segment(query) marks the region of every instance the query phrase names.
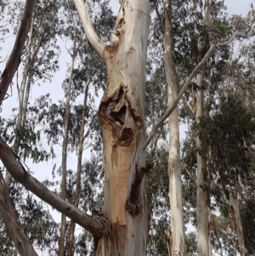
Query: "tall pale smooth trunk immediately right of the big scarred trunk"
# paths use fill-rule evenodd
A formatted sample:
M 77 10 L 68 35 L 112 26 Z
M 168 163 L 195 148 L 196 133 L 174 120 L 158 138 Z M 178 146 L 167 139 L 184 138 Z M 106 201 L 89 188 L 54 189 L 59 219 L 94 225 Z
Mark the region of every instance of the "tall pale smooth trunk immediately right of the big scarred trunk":
M 167 77 L 168 107 L 177 100 L 178 89 L 173 60 L 172 0 L 165 0 L 165 52 L 164 62 Z M 170 256 L 184 255 L 184 214 L 181 183 L 178 107 L 168 118 L 169 122 L 169 199 L 171 208 Z

